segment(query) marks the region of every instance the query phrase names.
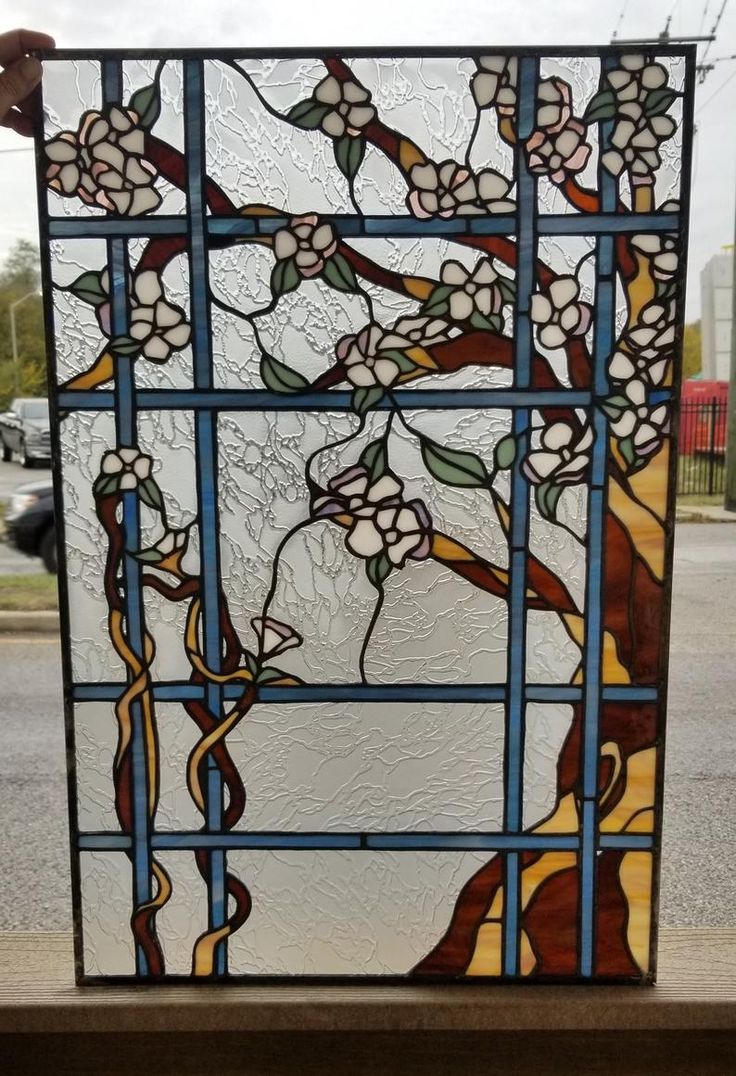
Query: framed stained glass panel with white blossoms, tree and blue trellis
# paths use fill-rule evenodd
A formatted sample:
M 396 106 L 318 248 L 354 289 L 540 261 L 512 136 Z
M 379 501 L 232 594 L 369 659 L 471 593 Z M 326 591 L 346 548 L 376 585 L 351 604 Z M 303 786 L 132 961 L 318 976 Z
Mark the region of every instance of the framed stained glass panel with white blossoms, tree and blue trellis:
M 51 53 L 77 975 L 651 979 L 694 53 Z

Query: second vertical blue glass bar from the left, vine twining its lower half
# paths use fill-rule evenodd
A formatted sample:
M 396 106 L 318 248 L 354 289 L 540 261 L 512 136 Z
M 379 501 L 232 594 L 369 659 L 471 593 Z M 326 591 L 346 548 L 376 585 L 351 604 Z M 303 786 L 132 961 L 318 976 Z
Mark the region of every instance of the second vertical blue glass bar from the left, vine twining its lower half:
M 207 251 L 207 204 L 204 198 L 204 67 L 203 61 L 184 61 L 184 123 L 187 157 L 187 216 L 189 221 L 189 296 L 195 388 L 212 387 L 212 346 L 209 308 L 209 261 Z M 202 603 L 202 645 L 210 669 L 221 671 L 220 631 L 220 544 L 217 525 L 217 420 L 210 410 L 195 415 L 197 444 L 197 486 L 199 493 L 200 597 Z M 209 684 L 207 706 L 217 720 L 222 717 L 222 689 Z M 223 826 L 222 775 L 208 759 L 206 826 L 218 832 Z M 210 852 L 208 884 L 209 925 L 223 926 L 227 920 L 225 852 Z M 215 950 L 214 971 L 224 975 L 227 949 L 224 942 Z

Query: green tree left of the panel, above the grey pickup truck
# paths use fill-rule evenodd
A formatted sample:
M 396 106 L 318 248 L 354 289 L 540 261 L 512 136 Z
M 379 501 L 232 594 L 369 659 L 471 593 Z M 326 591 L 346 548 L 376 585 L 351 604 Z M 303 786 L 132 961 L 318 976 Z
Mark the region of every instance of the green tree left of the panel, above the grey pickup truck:
M 0 410 L 8 407 L 16 390 L 20 396 L 46 395 L 46 349 L 40 295 L 15 308 L 17 368 L 13 363 L 11 340 L 11 305 L 29 292 L 38 292 L 40 282 L 39 252 L 27 239 L 20 239 L 0 268 Z

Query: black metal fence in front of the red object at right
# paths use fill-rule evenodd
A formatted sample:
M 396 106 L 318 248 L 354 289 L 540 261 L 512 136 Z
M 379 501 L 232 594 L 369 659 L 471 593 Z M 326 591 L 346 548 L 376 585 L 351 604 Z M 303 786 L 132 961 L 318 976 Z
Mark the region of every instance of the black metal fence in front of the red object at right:
M 725 400 L 682 400 L 677 492 L 713 495 L 725 489 Z

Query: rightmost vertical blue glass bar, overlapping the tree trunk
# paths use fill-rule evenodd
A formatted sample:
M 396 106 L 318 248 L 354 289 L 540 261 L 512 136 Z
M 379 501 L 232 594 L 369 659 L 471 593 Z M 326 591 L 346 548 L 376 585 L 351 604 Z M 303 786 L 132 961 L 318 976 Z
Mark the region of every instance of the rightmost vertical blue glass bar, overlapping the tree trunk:
M 615 66 L 605 60 L 601 70 Z M 612 125 L 598 127 L 601 146 L 606 144 Z M 598 167 L 600 211 L 613 213 L 618 201 L 618 183 L 603 167 Z M 593 351 L 593 385 L 597 397 L 608 394 L 608 360 L 615 342 L 615 258 L 613 237 L 601 236 L 596 241 L 595 260 L 595 343 Z M 588 500 L 588 562 L 585 571 L 585 664 L 583 688 L 582 736 L 582 835 L 580 847 L 580 974 L 595 972 L 595 908 L 596 858 L 598 827 L 598 753 L 600 700 L 603 691 L 604 637 L 604 544 L 606 539 L 606 464 L 608 459 L 608 421 L 596 408 L 593 415 L 593 463 Z

